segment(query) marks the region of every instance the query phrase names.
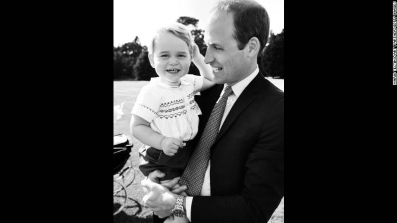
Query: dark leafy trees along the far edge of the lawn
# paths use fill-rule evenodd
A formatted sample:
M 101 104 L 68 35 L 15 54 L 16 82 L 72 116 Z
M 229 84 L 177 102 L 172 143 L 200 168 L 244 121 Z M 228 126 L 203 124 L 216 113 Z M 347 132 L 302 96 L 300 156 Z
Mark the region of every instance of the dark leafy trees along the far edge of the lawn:
M 191 26 L 200 53 L 205 55 L 207 46 L 204 43 L 204 30 L 198 29 L 198 19 L 181 16 L 177 22 Z M 113 47 L 113 79 L 114 80 L 150 80 L 157 77 L 150 65 L 148 47 L 142 46 L 139 37 L 121 46 Z M 284 78 L 284 29 L 279 34 L 270 32 L 268 44 L 258 56 L 259 70 L 267 77 Z M 198 68 L 191 64 L 189 73 L 199 75 Z

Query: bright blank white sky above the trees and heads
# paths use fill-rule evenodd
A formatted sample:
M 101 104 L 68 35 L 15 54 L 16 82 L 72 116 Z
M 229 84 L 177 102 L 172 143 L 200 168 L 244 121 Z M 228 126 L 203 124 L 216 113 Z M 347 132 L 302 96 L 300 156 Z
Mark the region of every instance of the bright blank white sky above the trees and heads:
M 256 0 L 270 17 L 270 30 L 275 34 L 284 28 L 284 0 Z M 113 44 L 132 42 L 138 36 L 148 45 L 151 33 L 163 23 L 180 16 L 198 19 L 198 28 L 205 29 L 209 10 L 215 0 L 113 0 Z

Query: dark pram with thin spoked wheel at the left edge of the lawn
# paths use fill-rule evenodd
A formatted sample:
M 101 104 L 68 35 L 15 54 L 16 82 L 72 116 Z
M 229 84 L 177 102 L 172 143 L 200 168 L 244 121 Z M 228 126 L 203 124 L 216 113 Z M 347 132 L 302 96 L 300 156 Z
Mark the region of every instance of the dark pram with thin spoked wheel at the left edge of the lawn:
M 116 208 L 113 215 L 120 213 L 126 206 L 128 200 L 127 187 L 131 185 L 135 179 L 135 170 L 132 167 L 132 161 L 130 160 L 132 147 L 133 145 L 130 144 L 125 134 L 113 136 L 113 203 L 115 203 L 115 200 L 120 200 L 120 198 L 122 200 L 124 199 L 124 202 L 122 202 L 123 205 L 118 209 Z M 132 180 L 129 180 L 130 183 L 125 185 L 125 179 L 131 170 L 133 171 L 134 176 Z

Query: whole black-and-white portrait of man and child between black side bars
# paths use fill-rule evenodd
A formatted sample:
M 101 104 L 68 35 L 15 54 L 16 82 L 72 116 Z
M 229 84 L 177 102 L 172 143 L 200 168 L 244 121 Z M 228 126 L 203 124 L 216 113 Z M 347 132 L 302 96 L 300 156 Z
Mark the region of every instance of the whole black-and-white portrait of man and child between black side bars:
M 113 223 L 284 223 L 284 1 L 113 10 Z

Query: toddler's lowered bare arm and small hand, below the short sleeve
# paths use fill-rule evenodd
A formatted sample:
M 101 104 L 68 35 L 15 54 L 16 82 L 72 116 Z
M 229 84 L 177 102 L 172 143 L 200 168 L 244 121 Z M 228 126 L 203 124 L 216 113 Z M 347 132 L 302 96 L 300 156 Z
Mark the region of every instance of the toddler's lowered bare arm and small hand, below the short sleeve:
M 133 114 L 131 119 L 131 132 L 141 143 L 154 147 L 168 156 L 174 156 L 184 143 L 176 138 L 165 137 L 150 128 L 150 123 L 145 119 Z

